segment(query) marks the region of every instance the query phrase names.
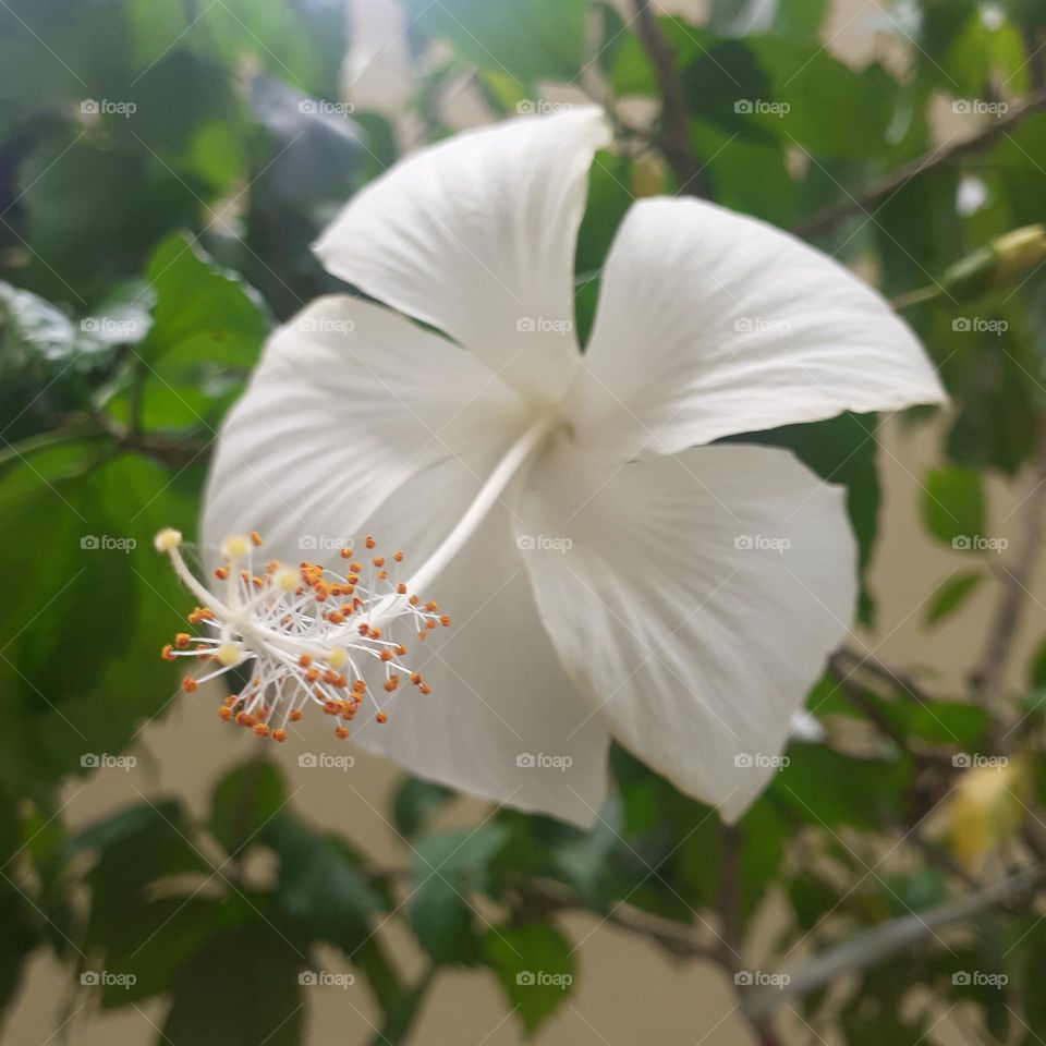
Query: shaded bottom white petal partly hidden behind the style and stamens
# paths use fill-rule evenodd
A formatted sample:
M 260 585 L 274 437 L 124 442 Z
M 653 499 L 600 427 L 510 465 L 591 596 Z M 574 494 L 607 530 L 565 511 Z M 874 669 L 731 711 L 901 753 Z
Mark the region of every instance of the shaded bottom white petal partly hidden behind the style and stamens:
M 435 466 L 366 530 L 421 562 L 464 512 L 494 457 L 474 452 Z M 423 777 L 589 827 L 606 792 L 606 727 L 588 716 L 542 625 L 506 506 L 422 595 L 451 617 L 425 643 L 405 641 L 406 661 L 433 691 L 401 688 L 385 706 L 388 722 L 360 717 L 353 740 Z

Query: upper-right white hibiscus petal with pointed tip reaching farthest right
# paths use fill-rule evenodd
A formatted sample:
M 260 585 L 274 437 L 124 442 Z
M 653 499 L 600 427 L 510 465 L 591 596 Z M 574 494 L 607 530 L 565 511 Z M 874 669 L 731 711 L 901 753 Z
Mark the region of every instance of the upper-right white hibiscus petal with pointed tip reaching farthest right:
M 875 291 L 794 236 L 696 199 L 632 207 L 585 364 L 569 414 L 582 446 L 618 461 L 944 399 Z

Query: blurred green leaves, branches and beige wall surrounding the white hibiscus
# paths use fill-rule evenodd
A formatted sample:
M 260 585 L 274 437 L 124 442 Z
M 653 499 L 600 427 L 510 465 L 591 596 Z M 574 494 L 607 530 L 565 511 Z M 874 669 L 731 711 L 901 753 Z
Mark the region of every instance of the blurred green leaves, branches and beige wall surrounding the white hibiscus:
M 847 485 L 864 591 L 737 832 L 620 752 L 591 834 L 259 752 L 157 657 L 191 600 L 151 536 L 343 289 L 318 231 L 591 100 L 582 331 L 629 204 L 691 192 L 878 285 L 952 396 L 763 435 Z M 4 1042 L 1046 1042 L 1044 205 L 1035 0 L 0 0 Z

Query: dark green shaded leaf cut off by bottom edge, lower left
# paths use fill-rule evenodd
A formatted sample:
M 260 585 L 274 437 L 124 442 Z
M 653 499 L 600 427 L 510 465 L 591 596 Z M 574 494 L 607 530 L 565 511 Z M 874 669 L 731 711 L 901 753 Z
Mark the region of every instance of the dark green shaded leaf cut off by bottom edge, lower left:
M 169 1046 L 297 1046 L 304 957 L 275 928 L 218 934 L 182 968 L 161 1042 Z

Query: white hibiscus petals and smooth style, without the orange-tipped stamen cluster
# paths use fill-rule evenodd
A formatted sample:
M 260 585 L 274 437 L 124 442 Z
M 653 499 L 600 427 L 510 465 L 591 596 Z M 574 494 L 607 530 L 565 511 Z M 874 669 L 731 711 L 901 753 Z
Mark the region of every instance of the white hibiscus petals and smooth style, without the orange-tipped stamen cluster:
M 582 352 L 575 239 L 609 141 L 596 109 L 512 120 L 356 194 L 316 253 L 372 301 L 320 299 L 270 339 L 203 535 L 258 526 L 287 559 L 381 534 L 415 587 L 438 579 L 439 700 L 356 743 L 591 825 L 612 739 L 735 820 L 849 629 L 856 549 L 840 488 L 721 440 L 944 391 L 875 291 L 696 199 L 632 207 Z

